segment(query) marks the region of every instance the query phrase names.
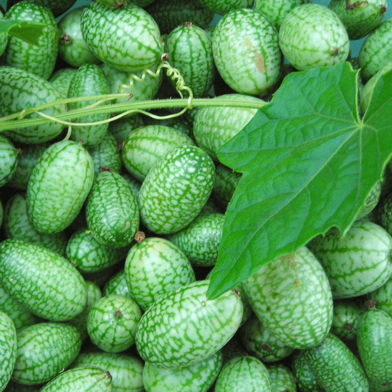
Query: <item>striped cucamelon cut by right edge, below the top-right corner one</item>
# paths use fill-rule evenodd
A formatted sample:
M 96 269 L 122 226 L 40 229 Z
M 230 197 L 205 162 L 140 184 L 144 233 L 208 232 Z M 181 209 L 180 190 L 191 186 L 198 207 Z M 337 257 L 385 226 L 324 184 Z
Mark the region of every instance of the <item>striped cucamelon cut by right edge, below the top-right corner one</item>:
M 361 75 L 370 79 L 392 58 L 392 18 L 380 23 L 366 38 L 358 54 Z

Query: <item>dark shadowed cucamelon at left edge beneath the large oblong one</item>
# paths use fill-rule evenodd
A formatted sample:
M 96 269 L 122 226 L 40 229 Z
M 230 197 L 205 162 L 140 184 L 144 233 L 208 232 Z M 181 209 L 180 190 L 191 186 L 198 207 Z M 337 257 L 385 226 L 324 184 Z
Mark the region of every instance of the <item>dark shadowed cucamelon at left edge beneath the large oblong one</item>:
M 2 286 L 0 286 L 0 312 L 6 313 L 12 319 L 17 331 L 40 321 L 39 317 L 7 294 Z

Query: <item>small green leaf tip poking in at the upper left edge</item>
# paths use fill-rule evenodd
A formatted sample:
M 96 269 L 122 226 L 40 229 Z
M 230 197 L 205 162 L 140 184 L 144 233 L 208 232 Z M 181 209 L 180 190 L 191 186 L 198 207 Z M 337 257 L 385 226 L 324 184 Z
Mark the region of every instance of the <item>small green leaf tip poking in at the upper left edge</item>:
M 37 46 L 38 39 L 43 33 L 43 23 L 34 23 L 17 20 L 0 20 L 0 35 L 7 34 L 10 37 L 20 38 L 28 44 Z

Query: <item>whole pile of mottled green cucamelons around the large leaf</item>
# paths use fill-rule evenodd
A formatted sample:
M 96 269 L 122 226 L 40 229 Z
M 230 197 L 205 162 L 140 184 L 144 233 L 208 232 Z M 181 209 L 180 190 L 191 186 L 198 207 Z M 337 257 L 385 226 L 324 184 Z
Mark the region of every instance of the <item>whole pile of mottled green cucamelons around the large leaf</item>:
M 241 180 L 217 151 L 289 73 L 349 61 L 365 113 L 387 2 L 73 5 L 0 13 L 0 391 L 392 391 L 392 164 L 344 236 L 207 295 Z

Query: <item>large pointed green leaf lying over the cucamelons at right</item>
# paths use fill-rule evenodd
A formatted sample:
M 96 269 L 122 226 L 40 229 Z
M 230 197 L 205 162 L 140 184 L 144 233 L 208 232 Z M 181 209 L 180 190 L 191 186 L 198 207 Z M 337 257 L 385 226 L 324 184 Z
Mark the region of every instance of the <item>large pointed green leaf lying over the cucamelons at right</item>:
M 290 73 L 218 151 L 244 174 L 226 211 L 209 298 L 355 220 L 392 153 L 392 73 L 380 78 L 363 121 L 357 73 L 349 63 Z

